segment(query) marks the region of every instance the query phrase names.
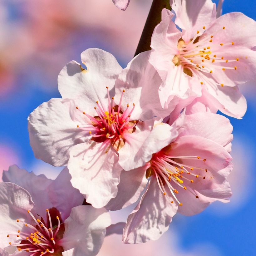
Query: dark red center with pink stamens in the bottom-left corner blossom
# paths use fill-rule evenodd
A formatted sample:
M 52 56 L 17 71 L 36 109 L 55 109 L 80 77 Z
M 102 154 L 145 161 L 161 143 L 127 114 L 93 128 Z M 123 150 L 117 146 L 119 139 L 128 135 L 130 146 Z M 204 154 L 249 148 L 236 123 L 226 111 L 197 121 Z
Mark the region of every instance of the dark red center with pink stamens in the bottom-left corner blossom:
M 36 224 L 27 224 L 24 221 L 17 219 L 17 222 L 24 224 L 24 230 L 17 230 L 17 234 L 8 234 L 7 237 L 14 235 L 16 237 L 20 237 L 22 240 L 15 244 L 9 242 L 9 244 L 16 246 L 18 251 L 31 253 L 30 256 L 50 254 L 61 255 L 63 248 L 58 245 L 58 241 L 62 238 L 62 234 L 60 234 L 62 233 L 60 232 L 61 218 L 58 215 L 56 216 L 57 225 L 56 227 L 53 227 L 53 224 L 56 221 L 52 221 L 50 211 L 53 213 L 52 215 L 54 215 L 54 212 L 56 213 L 57 209 L 46 209 L 46 211 L 48 224 L 45 224 L 42 218 L 36 219 L 29 210 L 27 212 L 30 214 Z

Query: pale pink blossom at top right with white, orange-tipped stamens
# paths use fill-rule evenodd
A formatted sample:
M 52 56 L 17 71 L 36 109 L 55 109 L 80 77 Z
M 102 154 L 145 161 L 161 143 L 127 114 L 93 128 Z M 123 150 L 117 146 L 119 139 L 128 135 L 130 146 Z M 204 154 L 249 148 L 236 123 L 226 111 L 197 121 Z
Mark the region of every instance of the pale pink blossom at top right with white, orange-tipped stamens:
M 175 23 L 174 14 L 164 9 L 152 35 L 149 59 L 163 80 L 162 106 L 175 95 L 186 99 L 203 94 L 211 109 L 241 118 L 246 101 L 237 85 L 255 77 L 255 21 L 239 12 L 216 19 L 210 0 L 170 4 Z

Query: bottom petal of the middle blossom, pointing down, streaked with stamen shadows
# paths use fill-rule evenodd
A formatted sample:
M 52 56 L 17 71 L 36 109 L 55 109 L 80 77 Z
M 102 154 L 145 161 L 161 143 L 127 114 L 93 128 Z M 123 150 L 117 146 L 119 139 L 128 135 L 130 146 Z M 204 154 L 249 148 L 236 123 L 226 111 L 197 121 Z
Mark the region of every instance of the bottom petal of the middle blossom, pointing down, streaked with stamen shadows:
M 75 145 L 68 162 L 73 187 L 96 208 L 105 206 L 116 196 L 122 170 L 116 150 L 110 143 L 105 144 L 90 140 Z

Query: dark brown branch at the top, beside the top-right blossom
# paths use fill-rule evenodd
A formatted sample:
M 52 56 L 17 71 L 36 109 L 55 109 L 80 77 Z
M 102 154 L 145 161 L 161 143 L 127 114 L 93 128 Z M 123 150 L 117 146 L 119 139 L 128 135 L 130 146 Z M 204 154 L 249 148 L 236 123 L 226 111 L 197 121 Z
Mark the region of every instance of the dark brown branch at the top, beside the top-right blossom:
M 134 56 L 138 55 L 140 52 L 151 50 L 151 36 L 155 26 L 161 21 L 163 8 L 171 10 L 170 0 L 153 0 Z

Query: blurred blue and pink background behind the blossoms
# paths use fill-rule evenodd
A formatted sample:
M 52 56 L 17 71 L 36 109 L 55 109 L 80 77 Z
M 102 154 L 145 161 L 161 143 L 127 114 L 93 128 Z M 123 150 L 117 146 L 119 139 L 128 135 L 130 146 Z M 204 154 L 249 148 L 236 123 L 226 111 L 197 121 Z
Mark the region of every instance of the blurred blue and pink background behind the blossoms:
M 192 1 L 192 0 L 191 0 Z M 133 57 L 152 0 L 131 0 L 125 12 L 111 0 L 0 0 L 0 174 L 9 165 L 55 178 L 61 168 L 37 160 L 29 145 L 27 116 L 42 102 L 60 97 L 57 76 L 80 53 L 99 47 L 125 67 Z M 214 1 L 217 2 L 217 1 Z M 223 13 L 255 19 L 255 0 L 225 0 Z M 176 214 L 158 241 L 124 245 L 105 239 L 101 256 L 255 255 L 255 85 L 240 87 L 248 110 L 234 126 L 229 177 L 233 197 L 191 217 Z M 111 213 L 125 221 L 132 207 Z

